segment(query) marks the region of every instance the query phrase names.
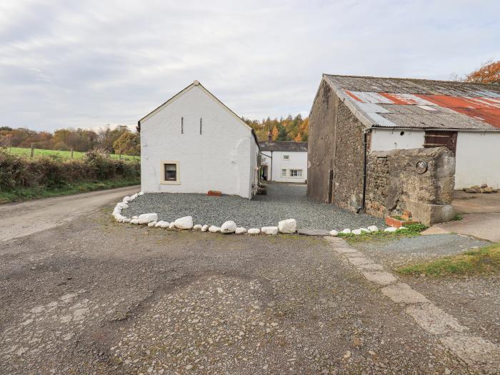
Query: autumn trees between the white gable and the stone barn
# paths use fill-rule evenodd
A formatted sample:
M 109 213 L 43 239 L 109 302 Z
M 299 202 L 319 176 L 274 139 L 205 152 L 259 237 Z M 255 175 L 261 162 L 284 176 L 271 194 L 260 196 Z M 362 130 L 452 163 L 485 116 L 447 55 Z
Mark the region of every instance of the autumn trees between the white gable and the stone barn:
M 267 141 L 269 130 L 271 130 L 273 141 L 305 142 L 309 138 L 309 117 L 302 119 L 300 114 L 280 119 L 268 117 L 262 121 L 249 120 L 244 117 L 242 119 L 255 130 L 259 141 Z

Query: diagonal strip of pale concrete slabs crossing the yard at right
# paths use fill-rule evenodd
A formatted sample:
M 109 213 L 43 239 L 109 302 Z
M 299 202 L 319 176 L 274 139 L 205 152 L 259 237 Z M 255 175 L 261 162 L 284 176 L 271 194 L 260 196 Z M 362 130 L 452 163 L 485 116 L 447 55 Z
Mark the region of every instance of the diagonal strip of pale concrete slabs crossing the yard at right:
M 379 286 L 381 293 L 391 301 L 405 307 L 424 331 L 436 336 L 452 353 L 479 371 L 496 373 L 500 368 L 500 345 L 473 336 L 469 328 L 442 311 L 423 294 L 398 281 L 384 271 L 381 264 L 367 258 L 361 251 L 352 249 L 344 239 L 325 236 L 333 249 L 359 271 L 366 280 Z

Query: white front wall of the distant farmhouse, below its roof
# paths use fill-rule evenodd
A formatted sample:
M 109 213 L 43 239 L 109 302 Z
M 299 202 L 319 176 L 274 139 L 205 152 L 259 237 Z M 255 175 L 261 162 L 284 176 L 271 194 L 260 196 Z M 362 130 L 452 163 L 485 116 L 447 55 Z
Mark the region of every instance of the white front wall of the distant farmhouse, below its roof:
M 262 151 L 264 154 L 271 155 L 271 151 Z M 283 155 L 288 155 L 289 159 L 283 159 Z M 267 178 L 276 182 L 296 182 L 304 184 L 307 179 L 307 151 L 273 151 L 272 175 L 271 159 L 262 156 L 261 164 L 268 166 Z M 286 169 L 286 177 L 281 177 L 281 169 Z M 290 169 L 301 169 L 301 177 L 291 177 Z

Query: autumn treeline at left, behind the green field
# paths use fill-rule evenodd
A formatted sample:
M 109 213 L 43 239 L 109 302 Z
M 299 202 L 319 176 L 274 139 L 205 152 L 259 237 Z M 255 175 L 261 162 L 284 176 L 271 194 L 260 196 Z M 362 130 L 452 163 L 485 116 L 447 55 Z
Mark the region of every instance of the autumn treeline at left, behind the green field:
M 139 155 L 139 134 L 126 126 L 108 127 L 98 131 L 86 129 L 59 129 L 54 133 L 26 128 L 12 129 L 0 126 L 0 147 L 31 147 L 59 151 L 90 151 L 99 149 L 110 154 Z

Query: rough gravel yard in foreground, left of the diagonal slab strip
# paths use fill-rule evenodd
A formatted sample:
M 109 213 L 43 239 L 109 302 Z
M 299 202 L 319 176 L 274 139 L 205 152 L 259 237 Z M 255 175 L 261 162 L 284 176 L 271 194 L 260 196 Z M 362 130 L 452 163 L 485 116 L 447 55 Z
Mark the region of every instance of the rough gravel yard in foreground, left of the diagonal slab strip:
M 323 239 L 106 210 L 0 249 L 4 374 L 469 374 Z

